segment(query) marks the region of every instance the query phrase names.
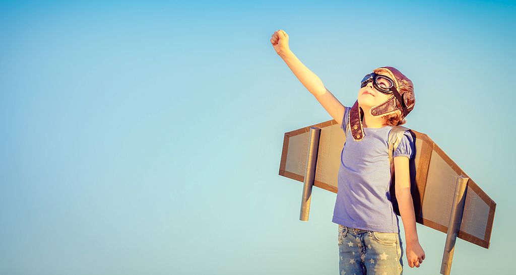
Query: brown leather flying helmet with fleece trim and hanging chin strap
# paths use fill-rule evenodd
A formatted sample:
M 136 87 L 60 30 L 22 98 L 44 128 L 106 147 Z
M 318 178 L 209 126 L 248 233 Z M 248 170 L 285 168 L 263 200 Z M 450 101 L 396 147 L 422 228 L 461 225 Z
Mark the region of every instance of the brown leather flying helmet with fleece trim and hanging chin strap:
M 381 67 L 374 70 L 373 73 L 388 76 L 393 80 L 394 86 L 390 88 L 392 96 L 387 101 L 371 108 L 371 115 L 379 117 L 394 114 L 396 111 L 399 111 L 403 118 L 407 117 L 409 112 L 414 109 L 415 105 L 414 85 L 412 81 L 393 67 Z M 385 93 L 384 91 L 382 92 Z M 391 92 L 389 92 L 389 94 L 390 93 Z M 364 129 L 361 119 L 362 114 L 363 110 L 358 106 L 357 101 L 349 111 L 351 134 L 357 141 L 364 138 Z

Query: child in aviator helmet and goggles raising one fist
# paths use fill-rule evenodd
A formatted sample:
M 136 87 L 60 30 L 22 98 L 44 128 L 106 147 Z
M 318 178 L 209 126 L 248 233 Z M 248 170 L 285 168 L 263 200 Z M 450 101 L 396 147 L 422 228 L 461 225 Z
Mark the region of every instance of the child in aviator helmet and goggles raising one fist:
M 389 192 L 392 172 L 388 137 L 392 126 L 405 123 L 414 107 L 412 82 L 395 68 L 376 69 L 362 79 L 353 107 L 344 107 L 290 51 L 288 35 L 283 30 L 275 31 L 270 42 L 304 87 L 346 132 L 333 213 L 333 222 L 339 224 L 341 275 L 401 274 L 398 218 Z M 417 238 L 410 194 L 412 151 L 412 136 L 406 132 L 393 154 L 395 193 L 405 229 L 407 261 L 410 267 L 419 267 L 425 251 Z

